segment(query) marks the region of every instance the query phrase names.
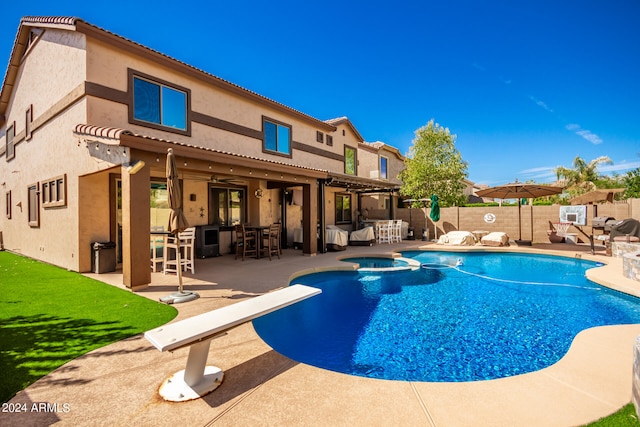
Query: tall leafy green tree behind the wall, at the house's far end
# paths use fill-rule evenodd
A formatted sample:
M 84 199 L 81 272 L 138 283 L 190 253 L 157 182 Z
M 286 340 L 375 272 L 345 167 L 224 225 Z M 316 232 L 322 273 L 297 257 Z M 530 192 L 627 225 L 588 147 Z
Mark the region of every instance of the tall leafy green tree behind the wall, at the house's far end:
M 456 150 L 456 136 L 433 119 L 415 135 L 400 173 L 400 193 L 411 199 L 428 199 L 436 194 L 441 206 L 464 204 L 467 198 L 462 180 L 468 176 L 467 163 Z

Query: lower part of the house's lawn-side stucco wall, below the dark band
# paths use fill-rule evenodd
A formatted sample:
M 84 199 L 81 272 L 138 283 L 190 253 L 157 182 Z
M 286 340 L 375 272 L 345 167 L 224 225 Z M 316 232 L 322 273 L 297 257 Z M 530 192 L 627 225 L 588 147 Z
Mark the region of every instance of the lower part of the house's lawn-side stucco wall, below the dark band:
M 3 217 L 0 229 L 5 246 L 46 262 L 72 270 L 79 268 L 80 253 L 77 223 L 79 220 L 78 176 L 86 172 L 86 149 L 71 137 L 75 123 L 84 118 L 80 102 L 33 134 L 29 142 L 16 147 L 16 157 L 0 168 L 5 192 L 12 193 L 12 218 Z M 6 173 L 6 174 L 5 174 Z M 30 184 L 66 174 L 66 206 L 40 207 L 40 226 L 28 224 L 28 192 Z M 19 208 L 17 205 L 21 204 Z

